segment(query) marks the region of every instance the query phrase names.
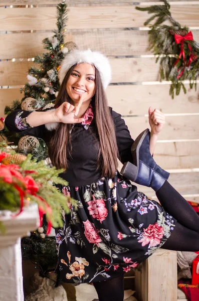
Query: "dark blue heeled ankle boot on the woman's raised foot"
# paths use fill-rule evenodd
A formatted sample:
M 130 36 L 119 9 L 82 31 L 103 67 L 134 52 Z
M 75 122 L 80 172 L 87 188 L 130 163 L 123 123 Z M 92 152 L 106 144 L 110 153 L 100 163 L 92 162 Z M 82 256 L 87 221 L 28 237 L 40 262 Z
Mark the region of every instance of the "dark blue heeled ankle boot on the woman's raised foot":
M 168 179 L 169 173 L 162 170 L 153 160 L 149 150 L 149 139 L 150 131 L 147 128 L 132 144 L 134 164 L 125 163 L 120 173 L 137 184 L 151 187 L 156 192 Z

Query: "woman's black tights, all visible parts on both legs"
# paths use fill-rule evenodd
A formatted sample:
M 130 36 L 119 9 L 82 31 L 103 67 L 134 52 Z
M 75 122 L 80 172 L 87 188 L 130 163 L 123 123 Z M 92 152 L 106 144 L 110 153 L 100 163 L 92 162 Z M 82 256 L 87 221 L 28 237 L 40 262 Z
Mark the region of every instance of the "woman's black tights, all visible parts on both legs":
M 175 251 L 199 251 L 199 216 L 187 201 L 166 181 L 156 196 L 177 223 L 162 248 Z M 93 283 L 99 301 L 123 301 L 124 276 Z

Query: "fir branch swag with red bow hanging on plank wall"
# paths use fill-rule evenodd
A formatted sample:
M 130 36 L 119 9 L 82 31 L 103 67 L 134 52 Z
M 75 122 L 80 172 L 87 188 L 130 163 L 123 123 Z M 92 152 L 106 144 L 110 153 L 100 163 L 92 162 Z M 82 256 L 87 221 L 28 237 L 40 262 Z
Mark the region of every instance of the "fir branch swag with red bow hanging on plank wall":
M 186 93 L 184 80 L 189 80 L 190 88 L 194 85 L 196 89 L 196 79 L 199 75 L 199 45 L 193 40 L 189 29 L 182 27 L 172 18 L 168 2 L 166 0 L 162 2 L 163 5 L 136 9 L 152 14 L 144 23 L 150 28 L 149 50 L 157 55 L 160 81 L 171 81 L 169 94 L 174 98 L 175 94 L 179 95 L 181 88 Z M 167 24 L 169 22 L 170 25 L 164 24 L 165 22 Z

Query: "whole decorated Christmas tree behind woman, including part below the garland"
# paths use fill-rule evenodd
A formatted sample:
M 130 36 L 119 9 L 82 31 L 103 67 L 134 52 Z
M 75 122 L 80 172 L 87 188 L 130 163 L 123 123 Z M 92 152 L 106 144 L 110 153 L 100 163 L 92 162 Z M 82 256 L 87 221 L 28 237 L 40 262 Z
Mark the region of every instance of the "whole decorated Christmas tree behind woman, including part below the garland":
M 6 106 L 5 114 L 8 115 L 15 109 L 44 110 L 54 106 L 60 84 L 58 71 L 60 64 L 68 51 L 76 48 L 75 43 L 64 43 L 67 22 L 67 4 L 65 0 L 57 6 L 57 30 L 51 38 L 43 40 L 44 48 L 48 50 L 43 56 L 35 57 L 35 66 L 29 69 L 28 83 L 22 89 L 24 97 L 20 101 L 14 100 L 11 106 Z M 38 67 L 39 66 L 39 67 Z M 32 136 L 22 136 L 20 133 L 10 132 L 0 121 L 0 131 L 9 141 L 18 145 L 19 153 L 31 153 L 37 161 L 47 158 L 47 147 L 42 139 Z M 43 226 L 31 233 L 30 237 L 22 239 L 22 255 L 24 259 L 31 260 L 40 270 L 40 275 L 48 276 L 48 273 L 56 268 L 57 251 L 55 237 L 46 236 L 47 222 L 44 219 Z

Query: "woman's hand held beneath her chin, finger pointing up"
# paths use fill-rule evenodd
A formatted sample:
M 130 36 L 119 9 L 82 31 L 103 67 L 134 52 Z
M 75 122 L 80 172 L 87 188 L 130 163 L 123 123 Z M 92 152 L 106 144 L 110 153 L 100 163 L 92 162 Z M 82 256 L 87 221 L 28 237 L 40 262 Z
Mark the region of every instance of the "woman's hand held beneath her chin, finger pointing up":
M 55 118 L 58 122 L 63 123 L 80 123 L 84 121 L 84 118 L 77 118 L 79 109 L 82 105 L 83 99 L 80 97 L 77 106 L 70 104 L 69 102 L 63 102 L 55 111 Z

